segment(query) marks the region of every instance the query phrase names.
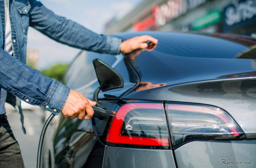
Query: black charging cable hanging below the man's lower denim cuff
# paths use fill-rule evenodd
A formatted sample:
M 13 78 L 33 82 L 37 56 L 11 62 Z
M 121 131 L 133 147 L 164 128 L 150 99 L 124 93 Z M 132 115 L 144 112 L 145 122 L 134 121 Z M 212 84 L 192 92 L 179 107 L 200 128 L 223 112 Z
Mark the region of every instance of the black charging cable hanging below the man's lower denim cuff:
M 43 142 L 44 142 L 44 135 L 45 135 L 48 125 L 50 124 L 50 122 L 54 116 L 55 116 L 55 114 L 52 113 L 48 117 L 48 119 L 44 123 L 44 127 L 43 127 L 41 135 L 40 135 L 38 151 L 37 151 L 37 168 L 41 167 L 41 155 L 42 155 L 42 147 L 43 147 Z

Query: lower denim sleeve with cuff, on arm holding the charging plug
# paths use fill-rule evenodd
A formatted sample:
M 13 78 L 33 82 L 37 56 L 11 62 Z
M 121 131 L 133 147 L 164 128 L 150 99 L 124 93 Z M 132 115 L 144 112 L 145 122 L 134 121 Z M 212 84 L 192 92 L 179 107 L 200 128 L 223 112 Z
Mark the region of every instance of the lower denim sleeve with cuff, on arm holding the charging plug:
M 32 105 L 58 114 L 70 88 L 29 68 L 0 48 L 0 87 Z

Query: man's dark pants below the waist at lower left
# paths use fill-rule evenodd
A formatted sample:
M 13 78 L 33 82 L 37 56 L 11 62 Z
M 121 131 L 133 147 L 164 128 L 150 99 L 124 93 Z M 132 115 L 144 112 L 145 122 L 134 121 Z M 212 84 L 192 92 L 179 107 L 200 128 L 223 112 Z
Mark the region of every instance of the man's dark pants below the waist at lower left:
M 0 167 L 23 168 L 20 146 L 7 119 L 0 120 Z

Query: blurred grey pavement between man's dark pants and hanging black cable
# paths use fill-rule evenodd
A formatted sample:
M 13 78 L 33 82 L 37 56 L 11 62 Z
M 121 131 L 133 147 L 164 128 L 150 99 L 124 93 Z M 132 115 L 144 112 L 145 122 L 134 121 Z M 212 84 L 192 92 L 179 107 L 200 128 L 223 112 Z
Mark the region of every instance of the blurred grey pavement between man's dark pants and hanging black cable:
M 39 137 L 42 131 L 44 111 L 40 107 L 34 106 L 29 110 L 23 109 L 24 126 L 27 134 L 24 134 L 21 129 L 20 114 L 13 107 L 6 104 L 6 115 L 13 130 L 14 136 L 17 139 L 25 168 L 35 168 L 37 163 L 37 149 Z

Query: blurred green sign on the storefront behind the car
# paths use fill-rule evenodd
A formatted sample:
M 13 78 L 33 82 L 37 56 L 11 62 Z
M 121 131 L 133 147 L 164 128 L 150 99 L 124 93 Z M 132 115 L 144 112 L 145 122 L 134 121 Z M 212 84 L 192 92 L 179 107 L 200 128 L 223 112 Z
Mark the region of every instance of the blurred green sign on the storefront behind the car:
M 204 27 L 210 26 L 212 24 L 218 23 L 220 21 L 221 21 L 221 11 L 214 10 L 214 11 L 207 13 L 204 16 L 201 16 L 201 17 L 195 19 L 192 27 L 193 27 L 193 30 L 199 30 Z

